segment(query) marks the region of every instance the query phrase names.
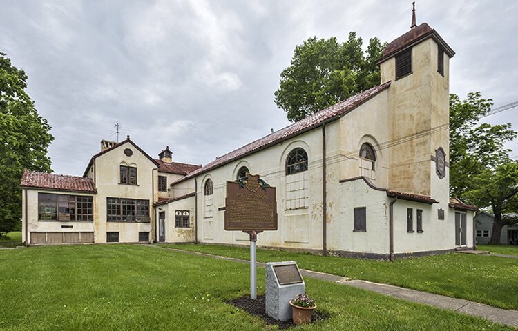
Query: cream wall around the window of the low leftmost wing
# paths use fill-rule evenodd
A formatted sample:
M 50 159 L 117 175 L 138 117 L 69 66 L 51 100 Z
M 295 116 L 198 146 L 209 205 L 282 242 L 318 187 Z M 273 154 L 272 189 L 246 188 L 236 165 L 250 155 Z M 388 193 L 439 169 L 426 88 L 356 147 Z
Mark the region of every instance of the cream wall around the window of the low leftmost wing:
M 81 195 L 88 197 L 92 197 L 94 194 L 56 190 L 23 189 L 22 220 L 25 220 L 25 191 L 27 191 L 27 200 L 29 202 L 27 205 L 28 243 L 30 243 L 30 232 L 93 232 L 95 230 L 93 221 L 38 221 L 38 193 Z M 94 212 L 96 207 L 97 206 L 95 205 L 94 201 Z M 69 225 L 73 228 L 61 228 L 61 225 Z M 21 233 L 22 241 L 26 241 L 24 221 L 22 221 Z

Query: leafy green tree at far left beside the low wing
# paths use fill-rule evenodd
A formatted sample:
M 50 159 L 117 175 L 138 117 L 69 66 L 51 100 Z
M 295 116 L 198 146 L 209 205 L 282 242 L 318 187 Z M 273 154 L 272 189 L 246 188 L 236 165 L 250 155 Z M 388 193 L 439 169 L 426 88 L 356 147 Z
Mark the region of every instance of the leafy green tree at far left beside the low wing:
M 19 227 L 24 169 L 50 172 L 54 140 L 25 92 L 27 76 L 0 53 L 0 236 Z

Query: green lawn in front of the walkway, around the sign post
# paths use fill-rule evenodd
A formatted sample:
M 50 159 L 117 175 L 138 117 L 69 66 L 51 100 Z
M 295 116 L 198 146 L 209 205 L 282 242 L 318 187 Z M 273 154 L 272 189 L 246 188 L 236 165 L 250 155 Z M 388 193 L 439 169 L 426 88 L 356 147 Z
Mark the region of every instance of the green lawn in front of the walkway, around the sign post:
M 0 330 L 268 330 L 224 303 L 249 266 L 144 245 L 0 251 Z M 264 293 L 264 269 L 258 292 Z M 329 319 L 296 330 L 512 330 L 489 321 L 307 279 Z

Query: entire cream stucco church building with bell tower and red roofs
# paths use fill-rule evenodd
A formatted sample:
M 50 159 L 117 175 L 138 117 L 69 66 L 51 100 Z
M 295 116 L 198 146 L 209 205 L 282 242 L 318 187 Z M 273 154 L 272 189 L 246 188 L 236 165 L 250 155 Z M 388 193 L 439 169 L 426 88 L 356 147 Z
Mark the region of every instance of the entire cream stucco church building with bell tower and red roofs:
M 225 185 L 249 172 L 277 189 L 278 230 L 260 246 L 381 258 L 470 248 L 476 208 L 448 193 L 453 56 L 412 23 L 378 61 L 380 85 L 202 167 L 173 163 L 169 148 L 153 159 L 128 137 L 103 141 L 83 177 L 26 172 L 23 240 L 244 245 L 224 230 Z

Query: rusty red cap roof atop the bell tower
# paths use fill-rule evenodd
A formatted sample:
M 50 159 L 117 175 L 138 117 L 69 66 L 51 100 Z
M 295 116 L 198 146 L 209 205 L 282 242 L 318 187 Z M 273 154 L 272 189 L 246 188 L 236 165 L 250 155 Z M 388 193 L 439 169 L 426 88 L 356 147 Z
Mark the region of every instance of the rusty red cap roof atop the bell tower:
M 445 43 L 441 36 L 439 36 L 439 34 L 434 29 L 430 28 L 427 23 L 421 23 L 419 26 L 410 29 L 410 31 L 391 41 L 387 45 L 387 48 L 385 48 L 383 57 L 378 60 L 378 64 L 389 59 L 390 57 L 393 57 L 401 50 L 405 50 L 410 46 L 415 45 L 419 41 L 423 41 L 429 37 L 433 38 L 434 41 L 443 46 L 444 51 L 446 54 L 448 54 L 449 57 L 454 56 L 455 52 L 452 50 L 452 48 L 450 48 L 450 46 L 448 46 L 447 43 Z

